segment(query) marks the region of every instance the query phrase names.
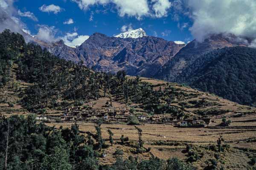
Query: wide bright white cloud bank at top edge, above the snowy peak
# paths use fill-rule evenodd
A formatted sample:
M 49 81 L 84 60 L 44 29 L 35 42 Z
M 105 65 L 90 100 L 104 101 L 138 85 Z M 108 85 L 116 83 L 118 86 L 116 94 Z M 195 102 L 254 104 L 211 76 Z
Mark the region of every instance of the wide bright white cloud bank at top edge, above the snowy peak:
M 143 16 L 150 14 L 147 0 L 72 0 L 79 5 L 79 8 L 87 10 L 93 5 L 106 5 L 113 3 L 117 9 L 119 16 L 134 16 L 138 20 Z

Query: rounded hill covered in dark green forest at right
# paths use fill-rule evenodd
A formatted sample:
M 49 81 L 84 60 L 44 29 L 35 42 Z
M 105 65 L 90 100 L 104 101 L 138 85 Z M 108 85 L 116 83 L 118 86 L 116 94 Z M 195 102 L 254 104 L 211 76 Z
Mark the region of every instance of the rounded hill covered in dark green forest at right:
M 256 49 L 222 48 L 199 57 L 178 77 L 192 88 L 256 105 Z

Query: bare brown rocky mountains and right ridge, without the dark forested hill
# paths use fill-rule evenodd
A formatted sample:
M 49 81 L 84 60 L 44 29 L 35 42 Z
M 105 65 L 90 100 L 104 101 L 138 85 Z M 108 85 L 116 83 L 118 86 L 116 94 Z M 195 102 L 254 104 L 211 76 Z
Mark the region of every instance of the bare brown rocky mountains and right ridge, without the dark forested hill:
M 63 40 L 51 44 L 38 40 L 34 42 L 49 48 L 60 58 L 83 61 L 95 71 L 116 73 L 125 70 L 128 75 L 172 82 L 178 81 L 177 76 L 203 54 L 224 47 L 248 46 L 244 41 L 237 41 L 233 35 L 223 34 L 212 35 L 204 42 L 193 40 L 187 45 L 158 37 L 140 37 L 140 33 L 136 37 L 109 37 L 95 33 L 77 48 L 65 45 Z

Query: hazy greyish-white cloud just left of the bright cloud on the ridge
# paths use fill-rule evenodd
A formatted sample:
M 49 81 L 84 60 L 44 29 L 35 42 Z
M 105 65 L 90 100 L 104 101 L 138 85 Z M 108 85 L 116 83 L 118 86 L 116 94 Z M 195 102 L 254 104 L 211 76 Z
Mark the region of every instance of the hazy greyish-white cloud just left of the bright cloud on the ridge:
M 55 34 L 57 30 L 55 29 L 54 26 L 46 26 L 46 25 L 38 25 L 38 34 L 37 34 L 37 39 L 42 40 L 45 42 L 54 42 L 56 41 L 55 39 Z

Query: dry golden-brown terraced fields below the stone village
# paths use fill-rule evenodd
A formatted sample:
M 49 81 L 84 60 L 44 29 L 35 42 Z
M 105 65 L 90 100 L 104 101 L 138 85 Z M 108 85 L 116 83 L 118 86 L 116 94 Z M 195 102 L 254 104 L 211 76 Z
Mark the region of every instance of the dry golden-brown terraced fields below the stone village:
M 240 118 L 230 118 L 234 126 L 237 125 L 235 121 L 248 121 L 252 119 L 256 119 L 256 115 L 244 116 Z M 229 165 L 227 166 L 235 166 L 231 163 L 232 159 L 239 159 L 239 154 L 250 155 L 256 152 L 256 127 L 248 128 L 246 126 L 240 126 L 239 128 L 232 128 L 233 123 L 231 123 L 230 127 L 214 127 L 214 125 L 218 125 L 218 122 L 221 122 L 221 119 L 214 119 L 216 123 L 213 123 L 210 128 L 179 128 L 173 127 L 172 125 L 160 125 L 160 124 L 145 124 L 140 125 L 143 130 L 143 140 L 145 142 L 145 147 L 151 147 L 150 153 L 139 154 L 135 156 L 147 158 L 150 155 L 157 156 L 161 159 L 169 159 L 170 157 L 178 157 L 180 159 L 186 159 L 186 154 L 184 150 L 186 150 L 186 145 L 191 144 L 192 146 L 201 148 L 204 150 L 204 147 L 209 145 L 216 145 L 216 141 L 220 136 L 223 136 L 225 139 L 225 143 L 231 146 L 230 154 L 227 156 L 227 162 Z M 245 122 L 239 122 L 242 125 L 245 125 Z M 60 126 L 70 127 L 72 123 L 49 123 L 49 126 L 55 125 L 57 128 Z M 83 123 L 78 122 L 79 129 L 82 133 L 96 133 L 95 124 L 93 123 Z M 246 127 L 246 128 L 245 128 Z M 125 151 L 125 156 L 131 153 L 131 148 L 127 146 L 119 145 L 121 135 L 128 136 L 130 141 L 137 142 L 138 134 L 137 130 L 134 126 L 125 125 L 125 124 L 103 124 L 102 125 L 102 136 L 108 141 L 108 132 L 110 129 L 114 133 L 114 140 L 116 144 L 114 147 L 110 147 L 106 149 L 107 157 L 102 159 L 101 162 L 114 162 L 115 157 L 111 154 L 114 150 L 119 147 L 120 149 Z M 108 143 L 108 142 L 107 142 Z M 247 151 L 242 151 L 247 150 Z M 210 158 L 211 152 L 206 152 L 206 156 L 204 159 Z M 247 160 L 248 156 L 244 156 L 243 159 Z M 206 166 L 203 163 L 203 160 L 198 161 L 196 163 L 199 166 L 199 169 Z M 106 161 L 108 160 L 108 161 Z M 249 160 L 249 159 L 248 159 Z M 244 163 L 240 163 L 240 167 L 238 169 L 244 169 L 247 165 Z M 244 166 L 244 167 L 243 167 Z M 236 166 L 233 167 L 236 169 Z

